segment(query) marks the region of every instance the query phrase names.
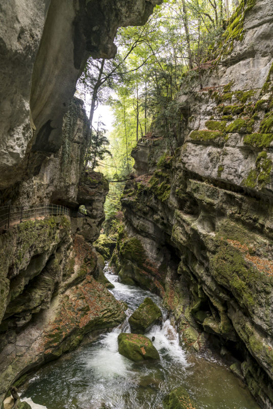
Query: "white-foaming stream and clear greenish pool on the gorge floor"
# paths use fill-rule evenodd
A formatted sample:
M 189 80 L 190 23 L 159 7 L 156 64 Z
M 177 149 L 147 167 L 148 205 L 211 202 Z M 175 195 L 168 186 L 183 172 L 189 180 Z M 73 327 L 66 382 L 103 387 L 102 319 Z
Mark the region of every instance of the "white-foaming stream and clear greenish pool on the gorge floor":
M 160 361 L 134 363 L 118 352 L 118 335 L 130 332 L 126 320 L 119 328 L 50 362 L 30 380 L 22 400 L 33 409 L 161 409 L 164 396 L 182 385 L 198 409 L 259 409 L 248 390 L 223 365 L 188 355 L 167 319 L 159 297 L 118 282 L 106 263 L 105 276 L 115 285 L 117 300 L 125 301 L 130 316 L 150 297 L 163 311 L 163 326 L 153 326 Z M 42 405 L 42 406 L 41 406 Z

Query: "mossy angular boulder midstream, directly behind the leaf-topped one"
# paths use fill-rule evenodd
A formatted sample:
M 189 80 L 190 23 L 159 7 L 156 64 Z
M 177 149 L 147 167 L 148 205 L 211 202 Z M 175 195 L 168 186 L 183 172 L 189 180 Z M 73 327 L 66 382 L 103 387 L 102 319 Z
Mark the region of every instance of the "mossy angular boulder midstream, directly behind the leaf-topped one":
M 161 309 L 147 297 L 139 308 L 132 313 L 128 321 L 133 332 L 144 334 L 152 325 L 162 321 L 162 312 Z

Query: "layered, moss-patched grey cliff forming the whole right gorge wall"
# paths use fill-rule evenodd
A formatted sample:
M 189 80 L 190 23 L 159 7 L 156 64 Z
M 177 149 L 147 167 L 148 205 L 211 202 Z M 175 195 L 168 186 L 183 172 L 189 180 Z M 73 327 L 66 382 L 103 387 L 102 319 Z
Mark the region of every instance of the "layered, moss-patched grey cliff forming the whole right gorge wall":
M 122 198 L 127 232 L 112 259 L 121 280 L 162 294 L 185 343 L 199 350 L 208 339 L 239 358 L 266 408 L 273 405 L 272 6 L 241 2 L 220 61 L 204 64 L 201 77 L 184 77 L 177 100 L 184 142 L 175 155 L 163 155 L 160 140 L 139 142 L 137 177 Z M 156 169 L 141 158 L 147 146 Z

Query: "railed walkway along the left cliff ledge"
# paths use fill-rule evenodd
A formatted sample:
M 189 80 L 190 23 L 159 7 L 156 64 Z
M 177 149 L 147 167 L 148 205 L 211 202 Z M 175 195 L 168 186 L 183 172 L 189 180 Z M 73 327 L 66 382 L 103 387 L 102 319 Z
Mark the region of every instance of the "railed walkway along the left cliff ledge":
M 2 206 L 0 207 L 0 233 L 26 220 L 43 219 L 45 216 L 84 217 L 77 210 L 61 205 Z

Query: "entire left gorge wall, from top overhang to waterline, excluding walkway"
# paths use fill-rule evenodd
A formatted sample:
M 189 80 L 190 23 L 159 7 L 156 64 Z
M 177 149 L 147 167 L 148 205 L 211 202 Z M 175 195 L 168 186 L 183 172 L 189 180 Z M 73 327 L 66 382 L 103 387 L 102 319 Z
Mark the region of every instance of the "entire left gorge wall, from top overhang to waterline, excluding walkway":
M 95 280 L 108 183 L 82 174 L 89 125 L 73 95 L 87 58 L 115 56 L 118 27 L 144 24 L 161 2 L 1 2 L 0 204 L 55 203 L 72 217 L 0 232 L 0 405 L 21 375 L 124 320 Z M 80 205 L 86 215 L 74 217 Z

